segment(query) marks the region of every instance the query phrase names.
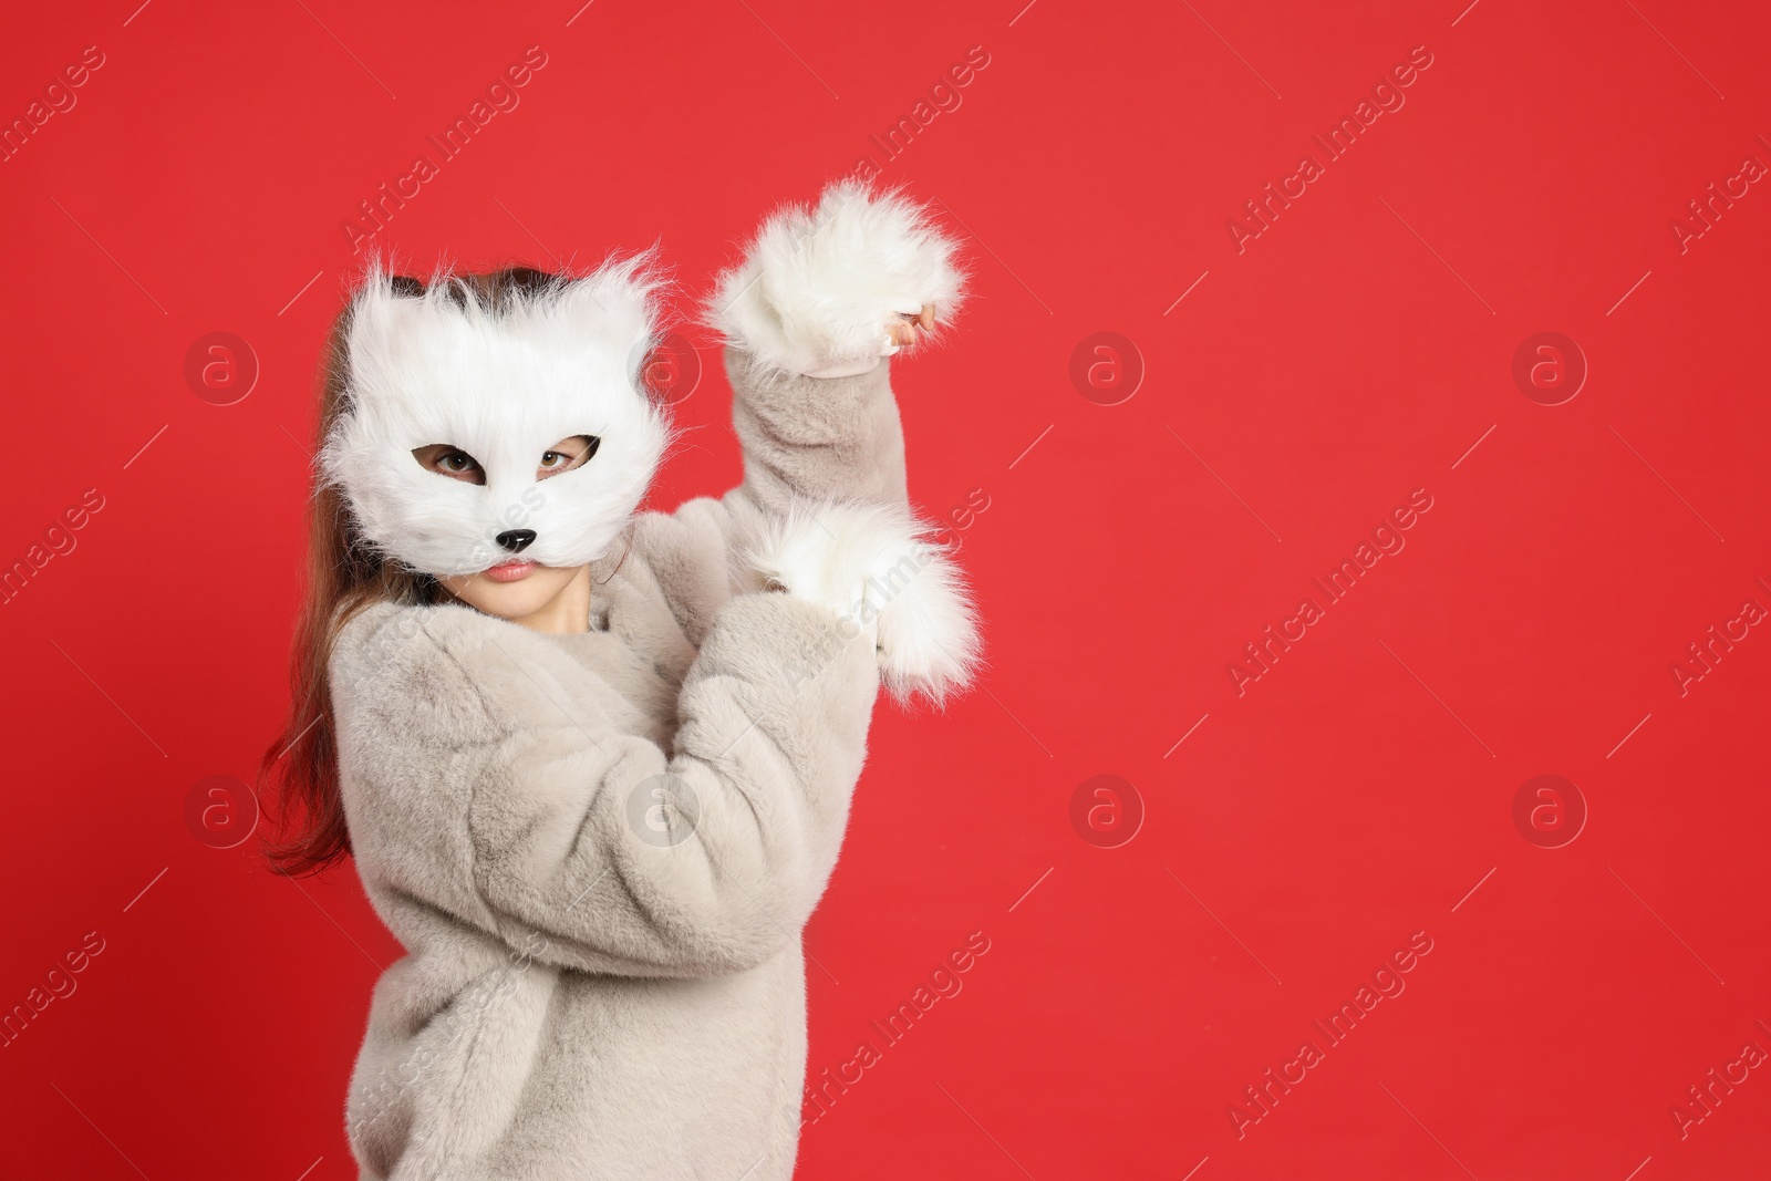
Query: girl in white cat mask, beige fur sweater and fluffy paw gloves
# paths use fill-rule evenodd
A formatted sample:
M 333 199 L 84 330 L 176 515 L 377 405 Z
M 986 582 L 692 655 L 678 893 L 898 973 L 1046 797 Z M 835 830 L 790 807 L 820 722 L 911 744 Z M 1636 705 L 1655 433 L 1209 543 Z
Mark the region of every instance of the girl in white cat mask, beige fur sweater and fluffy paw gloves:
M 331 338 L 266 772 L 276 864 L 352 855 L 407 951 L 351 1082 L 365 1181 L 788 1177 L 800 928 L 877 687 L 976 662 L 882 359 L 958 305 L 953 243 L 854 184 L 765 221 L 710 305 L 744 483 L 636 515 L 657 287 L 375 271 Z

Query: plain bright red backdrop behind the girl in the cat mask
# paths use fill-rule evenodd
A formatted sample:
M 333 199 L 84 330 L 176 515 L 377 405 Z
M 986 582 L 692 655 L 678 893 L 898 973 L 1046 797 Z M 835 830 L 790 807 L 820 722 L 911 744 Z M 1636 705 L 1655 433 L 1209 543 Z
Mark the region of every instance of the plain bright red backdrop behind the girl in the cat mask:
M 340 223 L 538 44 L 521 106 L 377 243 L 662 237 L 685 308 L 988 53 L 884 179 L 976 271 L 953 345 L 894 379 L 914 498 L 988 498 L 962 536 L 992 662 L 944 717 L 877 714 L 808 933 L 811 1073 L 971 931 L 990 951 L 806 1128 L 800 1176 L 1766 1176 L 1771 1071 L 1684 1137 L 1670 1115 L 1771 1050 L 1771 636 L 1684 696 L 1670 671 L 1771 606 L 1771 193 L 1684 251 L 1670 228 L 1771 163 L 1760 12 L 136 2 L 0 37 L 7 120 L 104 53 L 0 165 L 0 560 L 104 498 L 0 607 L 0 1006 L 104 940 L 0 1050 L 0 1172 L 356 1176 L 345 1084 L 398 947 L 349 868 L 275 878 L 184 806 L 285 708 L 313 368 L 361 260 Z M 1415 46 L 1406 106 L 1238 253 L 1227 220 Z M 234 405 L 184 379 L 213 331 L 262 367 Z M 1096 331 L 1146 368 L 1118 405 L 1068 375 Z M 1590 367 L 1562 405 L 1511 375 L 1541 331 Z M 739 476 L 703 358 L 661 505 Z M 1243 645 L 1415 489 L 1406 549 L 1238 696 Z M 1119 848 L 1071 825 L 1096 774 L 1144 806 Z M 1562 848 L 1512 820 L 1539 774 L 1590 811 Z M 1243 1087 L 1415 931 L 1406 992 L 1238 1139 Z

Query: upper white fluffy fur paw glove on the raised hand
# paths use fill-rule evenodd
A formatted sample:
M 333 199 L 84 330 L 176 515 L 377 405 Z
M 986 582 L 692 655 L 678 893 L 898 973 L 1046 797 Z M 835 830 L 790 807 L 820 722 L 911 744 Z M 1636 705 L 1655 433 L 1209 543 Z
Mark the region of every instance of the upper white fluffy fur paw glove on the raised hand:
M 767 368 L 866 374 L 914 340 L 905 317 L 926 333 L 960 306 L 956 248 L 896 191 L 836 181 L 816 209 L 786 205 L 763 221 L 744 262 L 721 274 L 708 317 Z

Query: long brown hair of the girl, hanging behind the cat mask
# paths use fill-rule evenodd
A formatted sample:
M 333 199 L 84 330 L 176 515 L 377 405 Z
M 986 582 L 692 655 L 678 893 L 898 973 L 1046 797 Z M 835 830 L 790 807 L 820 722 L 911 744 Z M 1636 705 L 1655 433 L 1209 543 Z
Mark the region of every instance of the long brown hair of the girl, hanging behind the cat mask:
M 517 297 L 560 283 L 563 276 L 533 267 L 483 274 L 452 274 L 448 296 L 471 290 L 483 306 L 508 308 Z M 421 296 L 425 283 L 397 276 L 402 296 Z M 319 441 L 351 409 L 347 305 L 333 324 L 321 359 Z M 432 604 L 450 598 L 429 574 L 388 560 L 358 531 L 342 490 L 319 478 L 308 503 L 308 570 L 289 669 L 289 719 L 259 763 L 259 799 L 269 830 L 264 853 L 276 873 L 298 876 L 326 869 L 351 853 L 344 797 L 338 788 L 338 735 L 333 726 L 326 669 L 338 632 L 377 602 Z

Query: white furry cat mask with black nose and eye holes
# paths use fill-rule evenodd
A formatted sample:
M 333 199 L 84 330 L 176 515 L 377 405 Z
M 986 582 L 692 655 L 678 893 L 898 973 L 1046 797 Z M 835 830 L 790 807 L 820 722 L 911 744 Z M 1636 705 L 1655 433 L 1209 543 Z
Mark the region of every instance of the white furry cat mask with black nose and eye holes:
M 496 306 L 445 274 L 420 296 L 370 271 L 351 303 L 347 409 L 321 450 L 361 535 L 432 575 L 510 560 L 496 538 L 514 529 L 535 531 L 524 560 L 600 558 L 669 441 L 639 386 L 661 285 L 650 267 L 650 255 L 611 260 Z M 572 436 L 597 439 L 590 460 L 538 478 Z M 413 450 L 437 443 L 471 455 L 485 483 L 420 466 Z

